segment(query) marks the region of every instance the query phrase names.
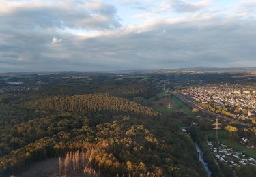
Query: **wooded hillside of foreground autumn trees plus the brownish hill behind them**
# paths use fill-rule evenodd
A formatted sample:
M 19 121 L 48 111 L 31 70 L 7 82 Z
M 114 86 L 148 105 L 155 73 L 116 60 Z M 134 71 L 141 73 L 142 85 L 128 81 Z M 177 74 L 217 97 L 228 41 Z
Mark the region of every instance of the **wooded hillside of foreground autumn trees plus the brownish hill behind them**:
M 46 116 L 0 130 L 0 176 L 20 176 L 49 158 L 58 164 L 53 176 L 205 175 L 188 135 L 171 118 L 138 103 L 95 94 L 23 106 Z M 41 171 L 50 175 L 44 167 Z

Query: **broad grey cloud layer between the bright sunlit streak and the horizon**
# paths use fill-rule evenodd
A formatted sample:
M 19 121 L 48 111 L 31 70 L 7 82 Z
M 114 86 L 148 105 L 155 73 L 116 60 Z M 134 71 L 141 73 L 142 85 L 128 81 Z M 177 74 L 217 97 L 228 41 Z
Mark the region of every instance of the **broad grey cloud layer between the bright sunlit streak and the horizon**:
M 255 22 L 226 22 L 225 25 L 208 21 L 159 23 L 152 29 L 119 37 L 106 35 L 83 40 L 63 33 L 58 37 L 63 42 L 54 47 L 44 41 L 44 38 L 51 39 L 51 35 L 42 33 L 42 44 L 31 45 L 27 40 L 11 46 L 19 48 L 22 44 L 22 50 L 18 50 L 16 56 L 28 57 L 28 61 L 16 59 L 18 65 L 57 71 L 67 67 L 68 70 L 86 71 L 256 65 L 253 50 L 256 37 L 252 35 Z M 162 33 L 162 29 L 166 32 Z M 0 52 L 1 63 L 7 63 L 6 59 L 3 61 L 5 57 Z M 244 61 L 243 65 L 241 61 Z M 12 63 L 14 59 L 10 60 Z

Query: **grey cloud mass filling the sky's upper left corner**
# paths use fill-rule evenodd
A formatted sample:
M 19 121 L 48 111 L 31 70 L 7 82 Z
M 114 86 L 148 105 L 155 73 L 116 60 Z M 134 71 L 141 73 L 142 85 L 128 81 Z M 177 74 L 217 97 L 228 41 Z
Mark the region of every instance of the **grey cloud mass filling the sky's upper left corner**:
M 97 1 L 4 1 L 0 22 L 22 29 L 113 29 L 121 27 L 113 5 Z

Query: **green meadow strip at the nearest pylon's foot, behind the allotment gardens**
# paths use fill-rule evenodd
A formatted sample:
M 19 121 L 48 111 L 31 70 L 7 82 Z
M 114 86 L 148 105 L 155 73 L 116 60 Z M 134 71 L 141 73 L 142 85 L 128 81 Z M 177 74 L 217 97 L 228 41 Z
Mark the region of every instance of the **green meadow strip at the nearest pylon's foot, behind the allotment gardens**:
M 200 131 L 200 133 L 207 134 L 209 138 L 214 139 L 216 137 L 215 131 Z M 219 134 L 219 142 L 222 144 L 225 144 L 234 150 L 238 150 L 240 152 L 243 152 L 245 155 L 248 155 L 250 157 L 253 157 L 256 159 L 256 150 L 251 150 L 249 148 L 246 148 L 243 144 L 240 144 L 235 138 L 232 138 L 234 135 L 227 133 L 225 130 L 221 130 L 218 132 Z

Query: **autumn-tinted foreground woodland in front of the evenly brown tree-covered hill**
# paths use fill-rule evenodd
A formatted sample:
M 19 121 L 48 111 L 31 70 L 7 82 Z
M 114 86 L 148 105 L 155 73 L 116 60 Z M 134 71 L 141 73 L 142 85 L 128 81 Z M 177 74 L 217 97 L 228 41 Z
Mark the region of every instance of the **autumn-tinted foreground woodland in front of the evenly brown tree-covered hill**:
M 39 159 L 86 150 L 94 152 L 89 167 L 100 174 L 204 174 L 193 142 L 168 118 L 66 115 L 30 120 L 5 133 L 14 129 L 19 131 L 10 135 L 10 146 L 16 150 L 1 157 L 1 172 L 18 172 Z

